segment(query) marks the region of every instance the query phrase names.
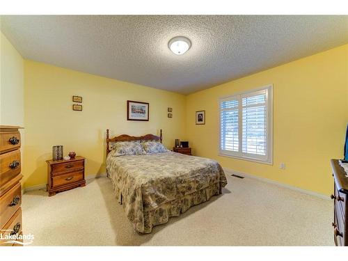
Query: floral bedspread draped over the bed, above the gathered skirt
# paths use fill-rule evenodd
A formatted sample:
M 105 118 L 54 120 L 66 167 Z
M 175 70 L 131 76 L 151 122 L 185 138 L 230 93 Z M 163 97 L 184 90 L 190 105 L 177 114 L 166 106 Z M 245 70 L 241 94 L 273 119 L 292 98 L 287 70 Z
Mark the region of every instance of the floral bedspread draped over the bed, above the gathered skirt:
M 136 231 L 144 232 L 144 212 L 218 184 L 227 184 L 217 161 L 164 152 L 114 157 L 110 152 L 106 169 L 113 189 Z

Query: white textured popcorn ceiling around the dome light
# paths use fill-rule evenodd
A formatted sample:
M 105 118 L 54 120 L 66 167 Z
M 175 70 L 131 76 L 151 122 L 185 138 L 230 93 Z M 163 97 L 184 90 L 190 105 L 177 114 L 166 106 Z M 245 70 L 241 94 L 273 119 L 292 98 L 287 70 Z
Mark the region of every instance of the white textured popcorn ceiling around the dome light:
M 344 45 L 348 16 L 19 15 L 1 31 L 24 58 L 187 94 Z

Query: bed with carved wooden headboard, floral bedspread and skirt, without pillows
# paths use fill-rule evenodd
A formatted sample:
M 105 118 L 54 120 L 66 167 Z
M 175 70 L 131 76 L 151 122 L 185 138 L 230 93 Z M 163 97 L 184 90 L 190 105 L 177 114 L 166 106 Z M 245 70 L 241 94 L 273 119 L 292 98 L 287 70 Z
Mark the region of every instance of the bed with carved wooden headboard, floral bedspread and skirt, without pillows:
M 111 144 L 124 141 L 161 143 L 162 132 L 160 136 L 110 138 L 106 130 L 106 171 L 136 232 L 152 232 L 153 226 L 168 222 L 171 216 L 219 195 L 227 184 L 223 169 L 212 159 L 171 151 L 116 157 Z

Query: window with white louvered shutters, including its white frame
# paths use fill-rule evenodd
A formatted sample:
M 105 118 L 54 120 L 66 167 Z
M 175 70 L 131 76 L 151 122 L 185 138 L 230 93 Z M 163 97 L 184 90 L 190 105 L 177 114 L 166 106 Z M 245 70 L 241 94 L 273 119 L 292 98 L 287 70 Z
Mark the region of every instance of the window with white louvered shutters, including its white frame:
M 272 86 L 223 97 L 220 155 L 272 164 Z

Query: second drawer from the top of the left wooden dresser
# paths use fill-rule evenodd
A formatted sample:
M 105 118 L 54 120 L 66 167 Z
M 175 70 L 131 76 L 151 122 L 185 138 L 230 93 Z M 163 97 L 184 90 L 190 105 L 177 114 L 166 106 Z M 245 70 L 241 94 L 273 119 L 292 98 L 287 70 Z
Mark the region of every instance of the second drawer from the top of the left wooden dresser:
M 21 172 L 21 153 L 19 150 L 0 155 L 0 187 Z

